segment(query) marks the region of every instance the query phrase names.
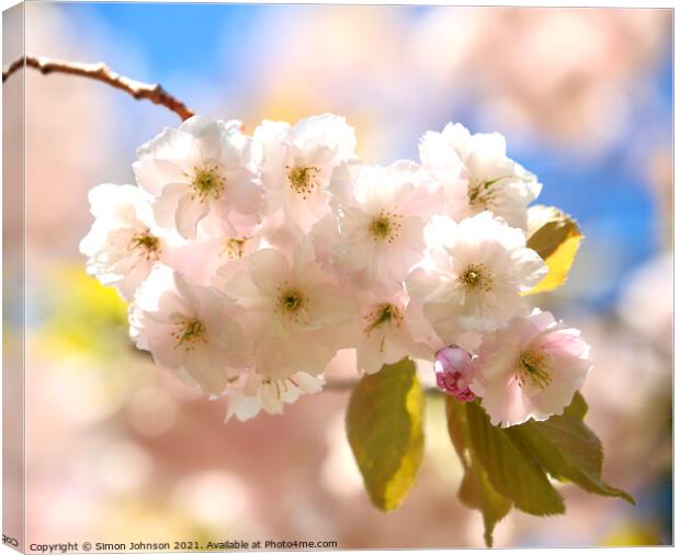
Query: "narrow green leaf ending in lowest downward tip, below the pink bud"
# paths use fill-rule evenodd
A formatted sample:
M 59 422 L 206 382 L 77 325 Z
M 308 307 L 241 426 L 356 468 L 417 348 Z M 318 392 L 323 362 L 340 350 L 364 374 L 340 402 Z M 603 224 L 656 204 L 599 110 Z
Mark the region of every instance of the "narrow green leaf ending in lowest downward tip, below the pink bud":
M 458 498 L 466 507 L 481 511 L 484 541 L 487 547 L 491 547 L 494 528 L 510 512 L 512 503 L 494 488 L 476 455 L 468 448 L 469 435 L 465 404 L 446 396 L 446 421 L 449 435 L 465 469 Z

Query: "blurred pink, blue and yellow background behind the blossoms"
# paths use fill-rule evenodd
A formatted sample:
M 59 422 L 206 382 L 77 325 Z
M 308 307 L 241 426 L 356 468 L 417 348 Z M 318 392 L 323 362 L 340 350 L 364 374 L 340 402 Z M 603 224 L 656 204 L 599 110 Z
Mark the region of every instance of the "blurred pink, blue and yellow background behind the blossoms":
M 26 5 L 25 41 L 35 55 L 159 81 L 248 132 L 262 118 L 343 114 L 360 156 L 377 162 L 417 158 L 419 137 L 449 121 L 506 135 L 543 182 L 540 201 L 585 231 L 568 283 L 535 302 L 592 343 L 587 422 L 605 479 L 638 502 L 559 486 L 567 514 L 513 511 L 496 544 L 671 542 L 670 10 L 50 2 Z M 35 71 L 26 110 L 29 543 L 483 545 L 480 516 L 456 498 L 462 469 L 438 399 L 417 485 L 384 514 L 344 439 L 348 393 L 225 426 L 224 401 L 136 353 L 125 306 L 78 253 L 87 193 L 132 182 L 136 147 L 180 122 L 101 83 Z M 351 366 L 341 353 L 333 372 Z

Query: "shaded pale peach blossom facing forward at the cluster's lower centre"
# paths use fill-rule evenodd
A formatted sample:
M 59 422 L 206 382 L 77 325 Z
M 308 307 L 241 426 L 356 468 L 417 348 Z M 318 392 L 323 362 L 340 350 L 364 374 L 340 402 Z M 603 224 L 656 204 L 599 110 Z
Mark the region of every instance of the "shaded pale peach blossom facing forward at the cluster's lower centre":
M 343 326 L 358 313 L 351 291 L 324 273 L 306 239 L 288 253 L 260 249 L 247 264 L 225 291 L 246 308 L 256 371 L 273 378 L 324 372 L 339 349 L 350 347 Z

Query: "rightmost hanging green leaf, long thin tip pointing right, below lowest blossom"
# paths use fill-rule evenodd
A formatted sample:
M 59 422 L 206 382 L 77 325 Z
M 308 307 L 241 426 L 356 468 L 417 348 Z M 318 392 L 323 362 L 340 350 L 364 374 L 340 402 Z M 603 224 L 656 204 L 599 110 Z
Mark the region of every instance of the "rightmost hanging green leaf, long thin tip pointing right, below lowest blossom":
M 581 403 L 585 406 L 577 394 L 563 415 L 544 422 L 529 421 L 507 431 L 518 444 L 525 445 L 553 477 L 571 482 L 586 491 L 620 497 L 635 505 L 631 495 L 602 480 L 602 444 L 583 423 Z

